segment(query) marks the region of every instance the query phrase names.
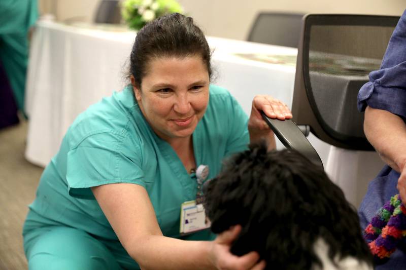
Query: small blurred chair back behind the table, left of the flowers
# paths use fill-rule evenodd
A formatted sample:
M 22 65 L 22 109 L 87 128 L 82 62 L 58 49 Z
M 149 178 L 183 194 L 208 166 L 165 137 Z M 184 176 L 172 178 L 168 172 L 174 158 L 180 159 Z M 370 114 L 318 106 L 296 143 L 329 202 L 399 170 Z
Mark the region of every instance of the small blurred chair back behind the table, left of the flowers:
M 118 0 L 101 0 L 98 4 L 95 23 L 118 24 L 121 22 L 121 12 Z

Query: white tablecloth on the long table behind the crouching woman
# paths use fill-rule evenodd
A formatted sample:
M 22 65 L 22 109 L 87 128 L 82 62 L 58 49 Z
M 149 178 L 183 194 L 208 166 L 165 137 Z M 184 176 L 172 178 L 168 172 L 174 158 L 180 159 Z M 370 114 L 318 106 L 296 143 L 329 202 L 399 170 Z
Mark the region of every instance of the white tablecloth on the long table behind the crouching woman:
M 77 115 L 128 84 L 125 66 L 135 35 L 121 28 L 38 23 L 31 43 L 26 87 L 27 160 L 46 166 Z M 213 67 L 218 74 L 214 83 L 228 89 L 247 114 L 257 94 L 269 94 L 291 105 L 294 65 L 254 61 L 235 54 L 295 56 L 296 49 L 216 37 L 208 37 L 208 42 L 214 49 Z M 365 181 L 359 181 L 360 169 L 354 168 L 357 165 L 351 162 L 356 161 L 358 153 L 352 152 L 352 159 L 343 160 L 346 166 L 348 163 L 352 166 L 348 172 L 347 167 L 341 165 L 340 157 L 331 156 L 337 152 L 336 149 L 331 151 L 334 147 L 313 135 L 309 141 L 319 153 L 327 173 L 345 189 L 347 199 L 358 205 L 365 192 Z M 282 148 L 280 142 L 277 144 Z M 375 173 L 377 169 L 372 171 Z M 342 180 L 343 177 L 346 179 Z

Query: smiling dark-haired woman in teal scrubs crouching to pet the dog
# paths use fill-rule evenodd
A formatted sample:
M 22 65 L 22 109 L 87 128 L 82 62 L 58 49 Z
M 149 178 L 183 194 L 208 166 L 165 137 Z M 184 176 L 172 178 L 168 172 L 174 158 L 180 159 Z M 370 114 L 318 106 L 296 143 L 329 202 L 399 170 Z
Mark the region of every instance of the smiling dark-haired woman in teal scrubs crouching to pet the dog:
M 248 118 L 211 73 L 191 18 L 168 15 L 138 32 L 131 85 L 79 115 L 41 177 L 23 232 L 30 269 L 264 267 L 256 252 L 229 252 L 238 225 L 217 237 L 180 234 L 181 205 L 201 189 L 194 169 L 206 165 L 209 179 L 250 141 L 275 147 L 260 110 L 292 116 L 257 96 Z

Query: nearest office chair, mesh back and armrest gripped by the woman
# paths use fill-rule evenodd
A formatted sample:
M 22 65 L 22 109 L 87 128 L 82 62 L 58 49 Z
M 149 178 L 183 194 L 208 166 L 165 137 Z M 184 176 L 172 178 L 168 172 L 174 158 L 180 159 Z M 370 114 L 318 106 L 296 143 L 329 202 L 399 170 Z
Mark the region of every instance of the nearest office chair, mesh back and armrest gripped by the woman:
M 264 120 L 287 148 L 321 165 L 320 157 L 297 127 L 331 145 L 374 150 L 363 131 L 357 94 L 371 70 L 379 69 L 399 17 L 306 15 L 300 35 L 292 120 Z

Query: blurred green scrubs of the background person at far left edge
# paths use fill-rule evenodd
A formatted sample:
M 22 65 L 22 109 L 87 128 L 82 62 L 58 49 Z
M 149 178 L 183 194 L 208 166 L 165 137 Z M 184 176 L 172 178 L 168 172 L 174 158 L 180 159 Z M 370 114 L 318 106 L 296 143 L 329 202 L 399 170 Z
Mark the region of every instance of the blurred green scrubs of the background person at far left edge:
M 21 111 L 24 111 L 28 30 L 37 19 L 37 0 L 0 1 L 0 60 Z

